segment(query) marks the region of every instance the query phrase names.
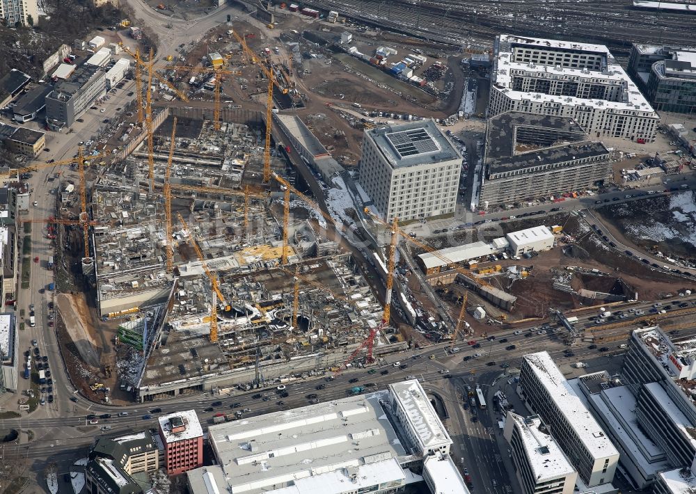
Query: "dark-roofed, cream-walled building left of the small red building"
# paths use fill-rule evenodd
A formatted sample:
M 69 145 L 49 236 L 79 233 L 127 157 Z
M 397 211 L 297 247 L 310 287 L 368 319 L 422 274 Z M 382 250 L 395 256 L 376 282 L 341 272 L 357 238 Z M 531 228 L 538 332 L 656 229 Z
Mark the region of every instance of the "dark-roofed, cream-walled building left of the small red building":
M 98 438 L 85 468 L 87 494 L 141 494 L 132 475 L 159 470 L 164 446 L 154 429 L 116 438 Z

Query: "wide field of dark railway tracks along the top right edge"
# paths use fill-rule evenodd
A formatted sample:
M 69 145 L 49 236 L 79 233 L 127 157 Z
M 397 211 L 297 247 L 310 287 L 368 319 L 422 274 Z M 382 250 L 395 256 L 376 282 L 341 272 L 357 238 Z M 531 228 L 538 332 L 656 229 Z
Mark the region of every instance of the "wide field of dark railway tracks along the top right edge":
M 492 45 L 499 33 L 602 42 L 693 44 L 693 16 L 633 10 L 630 2 L 517 0 L 308 0 L 322 10 L 456 47 Z M 521 28 L 523 26 L 523 28 Z

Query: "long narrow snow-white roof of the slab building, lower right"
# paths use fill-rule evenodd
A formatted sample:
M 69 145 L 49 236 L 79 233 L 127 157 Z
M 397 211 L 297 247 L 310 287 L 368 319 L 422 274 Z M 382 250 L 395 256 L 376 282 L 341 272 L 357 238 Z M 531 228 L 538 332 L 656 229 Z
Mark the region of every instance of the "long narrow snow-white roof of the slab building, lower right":
M 569 427 L 585 445 L 593 458 L 618 456 L 619 452 L 602 430 L 587 407 L 580 400 L 568 381 L 556 367 L 547 351 L 530 353 L 524 356 L 555 408 L 562 413 Z

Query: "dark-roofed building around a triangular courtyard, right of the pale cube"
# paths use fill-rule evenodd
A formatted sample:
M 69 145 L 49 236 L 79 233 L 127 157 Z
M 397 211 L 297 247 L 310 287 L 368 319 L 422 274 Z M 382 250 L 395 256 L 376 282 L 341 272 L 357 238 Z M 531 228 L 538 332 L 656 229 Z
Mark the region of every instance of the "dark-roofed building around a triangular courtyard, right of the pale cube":
M 514 204 L 586 191 L 612 176 L 610 151 L 567 117 L 507 112 L 489 118 L 477 204 Z

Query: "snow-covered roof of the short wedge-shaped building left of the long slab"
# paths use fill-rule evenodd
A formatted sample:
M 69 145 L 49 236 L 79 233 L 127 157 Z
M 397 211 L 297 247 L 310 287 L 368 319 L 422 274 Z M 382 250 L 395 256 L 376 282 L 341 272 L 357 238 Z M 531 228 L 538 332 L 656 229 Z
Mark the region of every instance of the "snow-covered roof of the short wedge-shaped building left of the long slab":
M 519 431 L 527 463 L 537 484 L 575 472 L 573 465 L 570 464 L 551 434 L 541 430 L 541 427 L 545 426 L 539 415 L 525 418 L 516 413 L 508 412 L 507 420 L 513 420 L 514 427 Z

